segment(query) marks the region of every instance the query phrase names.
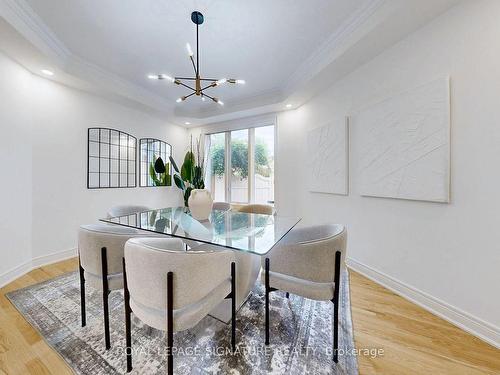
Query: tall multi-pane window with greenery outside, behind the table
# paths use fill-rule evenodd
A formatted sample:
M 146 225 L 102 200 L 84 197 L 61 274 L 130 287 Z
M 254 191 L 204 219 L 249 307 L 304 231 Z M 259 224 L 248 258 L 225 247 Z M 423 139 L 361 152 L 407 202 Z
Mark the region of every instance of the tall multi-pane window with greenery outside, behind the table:
M 209 134 L 206 145 L 215 201 L 274 202 L 274 126 Z

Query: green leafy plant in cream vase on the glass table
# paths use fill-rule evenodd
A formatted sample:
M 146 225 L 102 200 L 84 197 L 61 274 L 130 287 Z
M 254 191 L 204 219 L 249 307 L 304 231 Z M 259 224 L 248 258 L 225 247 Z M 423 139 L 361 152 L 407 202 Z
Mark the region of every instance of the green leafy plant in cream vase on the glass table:
M 184 205 L 189 207 L 195 219 L 208 219 L 212 211 L 213 200 L 210 192 L 205 189 L 205 159 L 202 155 L 200 139 L 196 140 L 195 155 L 191 138 L 191 149 L 186 152 L 180 170 L 172 157 L 170 157 L 170 162 L 175 171 L 173 175 L 175 185 L 182 190 Z

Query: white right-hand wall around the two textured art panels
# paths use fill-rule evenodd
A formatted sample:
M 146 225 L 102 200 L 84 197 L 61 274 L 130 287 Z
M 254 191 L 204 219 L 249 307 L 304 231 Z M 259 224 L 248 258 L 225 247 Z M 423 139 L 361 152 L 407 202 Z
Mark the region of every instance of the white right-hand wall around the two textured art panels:
M 349 228 L 357 269 L 500 346 L 500 1 L 467 1 L 294 111 L 278 115 L 278 212 Z M 451 204 L 309 193 L 306 132 L 451 76 Z M 395 284 L 391 284 L 395 283 Z M 405 289 L 406 288 L 406 289 Z M 413 293 L 413 294 L 412 294 Z M 449 311 L 447 311 L 449 309 Z

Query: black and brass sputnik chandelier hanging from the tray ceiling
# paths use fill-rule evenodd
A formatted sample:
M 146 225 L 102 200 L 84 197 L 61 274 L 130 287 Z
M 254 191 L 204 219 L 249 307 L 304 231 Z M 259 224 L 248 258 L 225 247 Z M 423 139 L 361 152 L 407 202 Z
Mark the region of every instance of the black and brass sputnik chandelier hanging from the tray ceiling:
M 217 97 L 208 95 L 205 93 L 206 90 L 212 89 L 214 87 L 217 87 L 219 85 L 225 84 L 225 83 L 232 83 L 232 84 L 244 84 L 245 81 L 242 79 L 235 79 L 235 78 L 221 78 L 221 79 L 215 79 L 215 78 L 202 78 L 201 73 L 200 73 L 200 52 L 199 52 L 199 41 L 198 41 L 198 28 L 199 26 L 203 23 L 203 14 L 201 14 L 198 11 L 194 11 L 191 13 L 191 21 L 196 25 L 196 63 L 194 61 L 194 53 L 193 50 L 191 49 L 191 45 L 189 43 L 186 44 L 186 49 L 189 54 L 189 59 L 191 60 L 191 64 L 193 64 L 193 69 L 194 69 L 194 77 L 170 77 L 166 74 L 152 74 L 149 75 L 148 78 L 150 79 L 157 79 L 157 80 L 167 80 L 172 83 L 175 83 L 176 85 L 183 86 L 191 92 L 188 95 L 181 96 L 178 98 L 176 101 L 177 103 L 183 102 L 187 98 L 197 95 L 201 97 L 201 100 L 205 101 L 206 98 L 213 100 L 215 103 L 218 103 L 220 105 L 224 105 L 224 102 L 220 100 Z M 183 82 L 185 81 L 185 82 Z M 194 83 L 194 87 L 192 87 L 192 84 Z

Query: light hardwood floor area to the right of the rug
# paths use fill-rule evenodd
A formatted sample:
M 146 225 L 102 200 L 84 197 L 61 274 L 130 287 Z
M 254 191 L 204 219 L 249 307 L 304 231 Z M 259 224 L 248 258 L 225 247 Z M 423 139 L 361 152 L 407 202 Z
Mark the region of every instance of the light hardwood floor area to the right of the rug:
M 500 350 L 351 271 L 354 339 L 382 348 L 361 374 L 500 374 Z

